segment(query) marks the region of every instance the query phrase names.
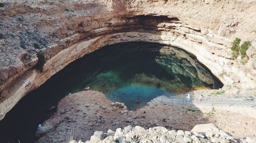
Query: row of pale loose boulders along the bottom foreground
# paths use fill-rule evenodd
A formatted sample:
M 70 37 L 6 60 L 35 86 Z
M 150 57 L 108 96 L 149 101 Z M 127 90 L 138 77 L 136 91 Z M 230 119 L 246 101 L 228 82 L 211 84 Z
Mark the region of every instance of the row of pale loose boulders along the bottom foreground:
M 144 129 L 140 126 L 127 126 L 124 129 L 118 128 L 116 131 L 109 130 L 107 133 L 95 131 L 90 140 L 86 143 L 114 143 L 114 142 L 255 142 L 256 137 L 234 138 L 231 134 L 224 132 L 215 124 L 196 125 L 191 131 L 168 130 L 165 127 L 153 127 Z M 77 143 L 72 140 L 69 143 Z M 81 140 L 78 143 L 82 143 Z

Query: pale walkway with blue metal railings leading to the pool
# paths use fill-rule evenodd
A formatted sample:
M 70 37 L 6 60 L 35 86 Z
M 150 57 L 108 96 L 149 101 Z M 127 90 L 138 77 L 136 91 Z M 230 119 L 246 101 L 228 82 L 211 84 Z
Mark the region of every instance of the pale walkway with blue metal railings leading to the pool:
M 203 95 L 203 98 L 200 101 L 201 95 Z M 167 92 L 162 94 L 161 103 L 170 104 L 173 102 L 181 102 L 183 104 L 188 102 L 196 104 L 208 103 L 211 105 L 227 104 L 229 106 L 240 104 L 253 107 L 256 105 L 256 94 L 195 94 L 190 95 L 190 98 L 187 98 L 185 94 L 170 94 Z

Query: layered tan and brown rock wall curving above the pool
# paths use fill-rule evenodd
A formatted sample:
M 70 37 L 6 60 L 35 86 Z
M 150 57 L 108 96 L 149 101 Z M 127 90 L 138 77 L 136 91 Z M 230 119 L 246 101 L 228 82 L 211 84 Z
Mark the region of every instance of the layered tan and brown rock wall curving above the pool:
M 0 119 L 72 61 L 104 45 L 129 41 L 180 47 L 197 56 L 230 90 L 255 91 L 254 1 L 3 2 Z M 252 41 L 245 65 L 230 60 L 230 42 L 235 37 Z M 32 68 L 38 50 L 47 57 L 42 73 Z

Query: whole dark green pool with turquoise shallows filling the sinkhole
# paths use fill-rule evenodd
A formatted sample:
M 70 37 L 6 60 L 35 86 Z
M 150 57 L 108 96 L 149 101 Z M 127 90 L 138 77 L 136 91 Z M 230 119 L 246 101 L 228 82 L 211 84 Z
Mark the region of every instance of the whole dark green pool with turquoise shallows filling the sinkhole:
M 136 109 L 139 106 L 129 102 L 139 94 L 143 100 L 141 106 L 154 98 L 156 91 L 184 93 L 195 87 L 221 86 L 196 58 L 178 48 L 144 42 L 109 45 L 69 64 L 20 100 L 0 122 L 0 138 L 4 143 L 18 142 L 18 139 L 22 143 L 34 142 L 37 125 L 55 111 L 49 108 L 69 93 L 85 87 Z M 120 90 L 127 97 L 118 94 Z M 134 94 L 135 99 L 131 99 Z M 152 96 L 147 97 L 148 94 Z

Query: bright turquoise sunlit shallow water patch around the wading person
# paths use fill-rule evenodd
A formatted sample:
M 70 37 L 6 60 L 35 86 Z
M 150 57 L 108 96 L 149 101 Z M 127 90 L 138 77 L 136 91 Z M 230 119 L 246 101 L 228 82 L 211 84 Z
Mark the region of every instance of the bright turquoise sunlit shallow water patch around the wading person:
M 131 85 L 106 94 L 106 98 L 114 102 L 122 102 L 130 110 L 135 110 L 138 107 L 145 106 L 148 101 L 154 99 L 157 94 L 163 94 L 163 92 L 162 89 Z M 137 98 L 140 99 L 139 103 L 136 102 Z

